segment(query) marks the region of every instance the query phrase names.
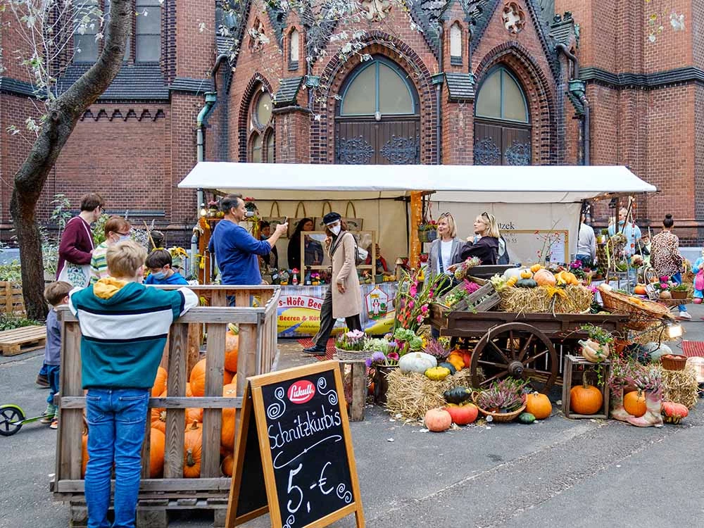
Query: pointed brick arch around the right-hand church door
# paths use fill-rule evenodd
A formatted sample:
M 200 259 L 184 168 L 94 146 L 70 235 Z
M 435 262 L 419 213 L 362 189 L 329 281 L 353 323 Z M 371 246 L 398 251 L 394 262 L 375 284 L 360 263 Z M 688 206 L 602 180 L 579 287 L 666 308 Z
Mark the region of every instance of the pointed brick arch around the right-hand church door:
M 489 51 L 474 70 L 479 85 L 496 65 L 505 65 L 520 82 L 527 99 L 532 122 L 532 163 L 557 163 L 555 96 L 548 76 L 531 54 L 518 42 L 505 42 Z

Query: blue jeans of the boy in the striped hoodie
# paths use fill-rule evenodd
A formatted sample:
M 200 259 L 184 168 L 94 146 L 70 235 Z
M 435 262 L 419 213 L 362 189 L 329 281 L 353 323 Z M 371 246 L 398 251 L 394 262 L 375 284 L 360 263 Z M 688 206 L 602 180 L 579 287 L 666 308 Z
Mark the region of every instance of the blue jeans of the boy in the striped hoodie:
M 149 389 L 89 389 L 88 465 L 85 495 L 88 528 L 109 528 L 110 475 L 115 463 L 113 528 L 134 528 L 142 471 L 142 442 Z

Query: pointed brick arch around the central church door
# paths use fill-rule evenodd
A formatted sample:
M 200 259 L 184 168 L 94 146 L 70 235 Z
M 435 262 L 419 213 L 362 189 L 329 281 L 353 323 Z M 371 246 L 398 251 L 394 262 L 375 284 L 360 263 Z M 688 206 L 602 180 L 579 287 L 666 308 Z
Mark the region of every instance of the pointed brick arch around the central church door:
M 359 53 L 384 56 L 408 74 L 420 103 L 420 163 L 434 163 L 437 148 L 434 119 L 436 103 L 431 75 L 425 63 L 408 44 L 381 31 L 371 31 L 365 48 Z M 322 97 L 314 99 L 312 108 L 310 163 L 334 163 L 335 96 L 339 94 L 347 75 L 361 62 L 359 55 L 344 61 L 340 54 L 335 54 L 325 65 L 320 77 Z M 428 141 L 432 143 L 426 145 Z

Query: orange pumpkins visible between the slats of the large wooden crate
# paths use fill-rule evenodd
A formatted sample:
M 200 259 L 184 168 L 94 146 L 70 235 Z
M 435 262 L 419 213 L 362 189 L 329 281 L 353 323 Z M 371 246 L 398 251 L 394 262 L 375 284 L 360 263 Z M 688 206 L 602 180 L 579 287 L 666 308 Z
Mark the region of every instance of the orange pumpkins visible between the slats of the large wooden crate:
M 234 398 L 237 396 L 237 357 L 239 351 L 239 337 L 232 327 L 225 334 L 225 372 L 223 375 L 222 396 Z M 167 396 L 168 372 L 163 367 L 158 367 L 154 384 L 151 388 L 153 398 Z M 186 384 L 186 396 L 205 396 L 206 388 L 206 360 L 196 363 L 191 370 L 189 382 Z M 184 466 L 185 478 L 198 478 L 201 476 L 201 454 L 203 440 L 203 409 L 187 408 L 186 429 L 184 430 Z M 220 454 L 222 465 L 220 470 L 227 477 L 232 477 L 232 453 L 234 451 L 235 436 L 235 409 L 222 409 L 222 428 L 220 431 Z M 166 432 L 166 410 L 164 408 L 151 409 L 151 432 L 149 436 L 149 477 L 152 479 L 163 476 L 164 453 Z M 85 477 L 88 463 L 88 431 L 82 435 L 82 467 L 81 477 Z

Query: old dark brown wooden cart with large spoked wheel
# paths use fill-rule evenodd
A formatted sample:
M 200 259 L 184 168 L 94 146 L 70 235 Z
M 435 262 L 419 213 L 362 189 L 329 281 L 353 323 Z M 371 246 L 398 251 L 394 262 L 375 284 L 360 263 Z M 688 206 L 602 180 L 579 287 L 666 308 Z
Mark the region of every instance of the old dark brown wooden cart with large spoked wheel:
M 624 335 L 629 318 L 622 314 L 447 312 L 438 305 L 431 305 L 430 311 L 430 322 L 441 335 L 477 341 L 470 365 L 472 386 L 486 387 L 510 376 L 529 379 L 543 394 L 555 382 L 562 382 L 564 356 L 587 337 L 583 325 Z

